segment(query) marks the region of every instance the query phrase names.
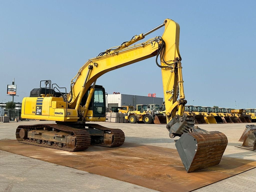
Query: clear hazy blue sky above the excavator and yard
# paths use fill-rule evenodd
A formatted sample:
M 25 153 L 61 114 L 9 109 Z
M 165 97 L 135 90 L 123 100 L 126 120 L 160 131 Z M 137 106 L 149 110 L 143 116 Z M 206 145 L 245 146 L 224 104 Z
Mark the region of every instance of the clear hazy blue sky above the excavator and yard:
M 13 77 L 17 102 L 40 80 L 69 90 L 89 58 L 170 18 L 180 25 L 188 103 L 256 108 L 255 16 L 256 1 L 0 1 L 0 102 L 11 100 Z M 163 97 L 154 60 L 111 71 L 97 84 L 108 93 Z

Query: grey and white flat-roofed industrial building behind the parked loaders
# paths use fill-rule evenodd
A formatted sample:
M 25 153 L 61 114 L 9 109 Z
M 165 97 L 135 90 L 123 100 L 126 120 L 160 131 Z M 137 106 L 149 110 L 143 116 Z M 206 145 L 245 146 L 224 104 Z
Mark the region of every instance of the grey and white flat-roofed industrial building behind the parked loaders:
M 121 107 L 121 106 L 135 106 L 138 104 L 159 104 L 162 105 L 163 98 L 161 97 L 147 97 L 140 95 L 127 95 L 127 94 L 109 94 L 106 95 L 106 106 Z

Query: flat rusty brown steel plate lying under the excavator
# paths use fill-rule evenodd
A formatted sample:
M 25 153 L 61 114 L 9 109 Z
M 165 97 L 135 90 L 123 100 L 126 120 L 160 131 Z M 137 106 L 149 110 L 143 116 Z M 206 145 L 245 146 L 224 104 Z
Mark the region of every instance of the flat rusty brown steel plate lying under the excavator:
M 222 157 L 216 166 L 187 173 L 177 150 L 134 143 L 115 148 L 91 145 L 86 151 L 68 152 L 2 140 L 0 150 L 164 192 L 193 191 L 256 166 L 254 161 Z

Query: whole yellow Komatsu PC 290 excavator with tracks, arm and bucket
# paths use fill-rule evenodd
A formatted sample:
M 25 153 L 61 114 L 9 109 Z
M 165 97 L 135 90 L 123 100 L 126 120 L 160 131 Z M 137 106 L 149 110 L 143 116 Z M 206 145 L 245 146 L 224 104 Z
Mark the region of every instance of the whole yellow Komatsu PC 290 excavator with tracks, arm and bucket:
M 162 36 L 135 44 L 161 27 L 164 27 Z M 32 90 L 30 97 L 23 99 L 21 116 L 23 119 L 52 120 L 56 123 L 19 125 L 16 129 L 17 140 L 66 151 L 85 150 L 90 144 L 121 146 L 125 140 L 122 130 L 86 123 L 106 119 L 105 90 L 96 85 L 96 80 L 109 71 L 155 56 L 156 66 L 162 72 L 166 128 L 170 138 L 180 137 L 175 140 L 175 146 L 184 167 L 187 172 L 192 172 L 219 164 L 228 143 L 225 134 L 200 129 L 194 125 L 193 118 L 183 116 L 187 101 L 179 32 L 178 23 L 165 19 L 152 30 L 101 52 L 79 69 L 71 80 L 69 93 L 50 80 L 41 81 L 40 88 Z

